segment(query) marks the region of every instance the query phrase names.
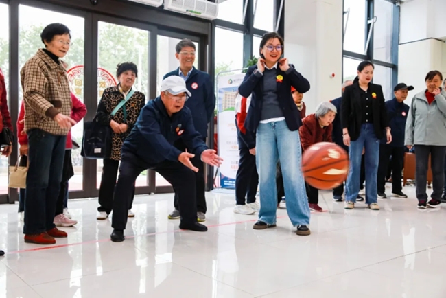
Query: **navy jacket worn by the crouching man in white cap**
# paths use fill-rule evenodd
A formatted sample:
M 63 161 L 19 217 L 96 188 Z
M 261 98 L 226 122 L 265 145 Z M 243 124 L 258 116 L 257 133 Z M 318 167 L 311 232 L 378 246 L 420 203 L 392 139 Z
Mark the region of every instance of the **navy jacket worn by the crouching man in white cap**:
M 163 161 L 178 161 L 181 151 L 173 146 L 183 139 L 191 153 L 200 156 L 207 146 L 193 127 L 192 115 L 186 106 L 169 117 L 161 98 L 150 100 L 139 114 L 137 123 L 122 146 L 154 167 Z

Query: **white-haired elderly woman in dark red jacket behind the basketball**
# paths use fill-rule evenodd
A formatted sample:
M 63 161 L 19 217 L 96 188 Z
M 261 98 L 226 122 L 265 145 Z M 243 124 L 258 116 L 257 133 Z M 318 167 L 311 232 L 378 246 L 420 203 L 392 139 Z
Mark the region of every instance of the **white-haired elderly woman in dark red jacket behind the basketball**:
M 309 146 L 320 143 L 322 141 L 332 142 L 331 132 L 333 124 L 331 124 L 336 116 L 336 106 L 331 102 L 322 102 L 316 107 L 316 113 L 303 118 L 303 125 L 299 128 L 301 136 L 302 150 L 305 151 Z M 307 190 L 309 209 L 322 212 L 319 203 L 319 191 L 308 183 L 305 183 Z

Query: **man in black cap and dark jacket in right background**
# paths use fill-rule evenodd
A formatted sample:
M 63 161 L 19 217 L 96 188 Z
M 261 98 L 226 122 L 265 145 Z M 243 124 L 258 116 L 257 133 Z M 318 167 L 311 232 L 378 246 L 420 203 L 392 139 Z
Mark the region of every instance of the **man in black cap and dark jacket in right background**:
M 404 152 L 404 131 L 406 130 L 406 119 L 408 118 L 409 106 L 404 104 L 408 97 L 408 92 L 414 87 L 404 83 L 397 84 L 393 89 L 395 98 L 386 102 L 389 126 L 392 131 L 392 141 L 387 144 L 384 137 L 379 146 L 379 166 L 377 174 L 378 198 L 386 196 L 386 175 L 390 157 L 392 157 L 392 196 L 397 198 L 407 198 L 403 194 L 401 185 L 401 172 L 403 171 Z

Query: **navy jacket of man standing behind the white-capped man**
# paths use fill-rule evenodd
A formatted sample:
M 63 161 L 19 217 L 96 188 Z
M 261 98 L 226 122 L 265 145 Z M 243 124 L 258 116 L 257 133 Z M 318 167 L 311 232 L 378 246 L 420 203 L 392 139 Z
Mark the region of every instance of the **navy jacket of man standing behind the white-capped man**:
M 167 73 L 163 80 L 169 76 L 178 76 L 180 68 Z M 193 126 L 203 139 L 207 138 L 207 124 L 211 122 L 215 111 L 215 93 L 211 76 L 193 67 L 186 80 L 186 87 L 192 96 L 187 100 L 186 106 L 191 110 Z M 212 122 L 213 123 L 213 122 Z

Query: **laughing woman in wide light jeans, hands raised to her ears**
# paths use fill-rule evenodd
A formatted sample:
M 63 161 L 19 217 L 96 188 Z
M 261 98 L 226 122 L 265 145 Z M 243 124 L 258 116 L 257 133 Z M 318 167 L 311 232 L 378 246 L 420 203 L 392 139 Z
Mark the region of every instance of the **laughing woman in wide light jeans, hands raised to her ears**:
M 257 65 L 250 67 L 239 93 L 252 96 L 245 126 L 256 131 L 256 163 L 260 184 L 259 220 L 254 229 L 276 226 L 276 165 L 281 160 L 287 211 L 297 235 L 309 235 L 309 207 L 301 172 L 301 117 L 290 93 L 291 87 L 305 93 L 309 82 L 288 64 L 283 38 L 276 32 L 264 34 Z

